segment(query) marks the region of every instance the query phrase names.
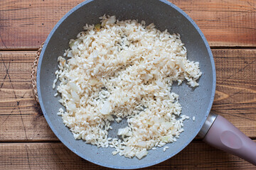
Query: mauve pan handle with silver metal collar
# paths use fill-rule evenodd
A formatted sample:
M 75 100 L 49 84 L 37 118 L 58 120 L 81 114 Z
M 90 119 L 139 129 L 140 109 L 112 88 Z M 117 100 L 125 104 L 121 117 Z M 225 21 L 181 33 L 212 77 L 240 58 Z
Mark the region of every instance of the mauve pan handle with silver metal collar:
M 256 165 L 256 142 L 221 115 L 210 113 L 198 135 L 209 145 Z

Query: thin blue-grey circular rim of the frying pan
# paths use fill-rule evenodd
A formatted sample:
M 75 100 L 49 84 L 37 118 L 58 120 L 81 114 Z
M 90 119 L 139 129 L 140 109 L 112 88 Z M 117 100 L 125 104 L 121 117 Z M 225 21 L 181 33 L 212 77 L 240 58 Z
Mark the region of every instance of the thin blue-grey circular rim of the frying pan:
M 188 21 L 190 21 L 190 23 L 193 25 L 194 28 L 196 28 L 196 30 L 199 33 L 199 35 L 201 36 L 204 44 L 206 45 L 206 49 L 208 51 L 208 55 L 210 56 L 210 62 L 211 62 L 211 66 L 212 66 L 213 84 L 212 84 L 212 93 L 211 93 L 211 96 L 210 96 L 210 102 L 209 102 L 209 105 L 208 105 L 205 117 L 201 120 L 201 123 L 200 123 L 200 126 L 199 126 L 200 128 L 198 128 L 197 130 L 195 130 L 193 132 L 193 135 L 191 135 L 189 140 L 187 140 L 186 143 L 182 147 L 180 147 L 176 152 L 171 152 L 171 154 L 169 154 L 167 157 L 164 157 L 162 159 L 157 159 L 156 161 L 150 162 L 149 164 L 143 164 L 143 165 L 139 165 L 139 166 L 136 166 L 136 165 L 132 165 L 132 166 L 113 166 L 111 164 L 105 164 L 105 163 L 97 162 L 97 161 L 95 161 L 95 159 L 90 159 L 90 157 L 85 157 L 85 155 L 83 155 L 82 153 L 77 152 L 75 149 L 73 149 L 73 147 L 68 142 L 66 142 L 63 139 L 63 137 L 61 137 L 58 134 L 58 131 L 55 130 L 55 128 L 53 128 L 53 124 L 51 123 L 50 118 L 48 118 L 48 115 L 46 113 L 46 109 L 45 109 L 45 107 L 43 105 L 42 96 L 41 96 L 41 86 L 40 86 L 41 64 L 42 64 L 42 61 L 43 61 L 44 52 L 46 51 L 46 47 L 48 45 L 48 42 L 49 42 L 50 38 L 55 33 L 55 30 L 57 30 L 57 28 L 60 26 L 60 24 L 63 23 L 63 21 L 65 21 L 65 18 L 70 16 L 70 14 L 73 13 L 74 11 L 78 10 L 78 8 L 80 8 L 80 7 L 90 3 L 91 1 L 95 1 L 95 0 L 83 1 L 81 4 L 78 4 L 78 6 L 75 6 L 70 11 L 68 11 L 68 13 L 66 13 L 65 16 L 63 16 L 63 18 L 61 18 L 60 21 L 58 21 L 58 23 L 56 23 L 56 25 L 54 26 L 53 30 L 50 31 L 50 34 L 48 35 L 48 38 L 46 39 L 45 45 L 43 45 L 43 50 L 41 51 L 41 56 L 39 57 L 39 60 L 38 60 L 38 70 L 37 70 L 37 78 L 36 78 L 36 81 L 38 82 L 37 83 L 38 100 L 39 100 L 41 109 L 43 111 L 43 115 L 46 118 L 46 121 L 47 121 L 48 125 L 50 126 L 50 129 L 54 132 L 54 134 L 58 137 L 58 139 L 66 147 L 68 147 L 68 149 L 70 149 L 72 152 L 74 152 L 78 156 L 82 157 L 83 159 L 85 159 L 85 160 L 87 160 L 89 162 L 92 162 L 94 164 L 97 164 L 97 165 L 100 165 L 100 166 L 105 166 L 105 167 L 108 167 L 108 168 L 113 168 L 113 169 L 140 169 L 140 168 L 144 168 L 144 167 L 148 167 L 148 166 L 153 166 L 155 164 L 159 164 L 161 162 L 164 162 L 166 159 L 174 157 L 174 155 L 178 154 L 178 152 L 181 152 L 181 150 L 183 150 L 196 137 L 198 132 L 201 130 L 203 124 L 205 123 L 206 118 L 208 117 L 208 114 L 210 113 L 210 109 L 211 109 L 211 107 L 213 105 L 213 99 L 214 99 L 214 96 L 215 96 L 215 86 L 216 86 L 215 63 L 214 63 L 214 60 L 213 60 L 213 54 L 212 54 L 212 52 L 210 50 L 210 46 L 208 45 L 208 42 L 207 42 L 205 36 L 203 35 L 202 31 L 200 30 L 200 28 L 198 28 L 196 23 L 192 20 L 192 18 L 190 18 L 188 16 L 188 14 L 186 14 L 184 11 L 181 10 L 181 8 L 178 8 L 176 5 L 172 4 L 169 1 L 159 0 L 162 3 L 164 3 L 164 4 L 168 5 L 168 6 L 171 6 L 171 8 L 174 8 L 176 11 L 181 13 L 181 15 L 183 15 Z

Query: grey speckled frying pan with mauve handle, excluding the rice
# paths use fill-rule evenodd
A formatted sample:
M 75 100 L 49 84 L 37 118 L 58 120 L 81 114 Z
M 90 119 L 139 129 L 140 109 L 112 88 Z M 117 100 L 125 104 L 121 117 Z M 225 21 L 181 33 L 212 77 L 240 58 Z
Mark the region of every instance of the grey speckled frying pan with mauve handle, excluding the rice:
M 166 145 L 169 147 L 166 152 L 163 152 L 162 148 L 149 150 L 149 154 L 141 160 L 135 157 L 133 159 L 120 157 L 118 154 L 113 156 L 113 148 L 97 148 L 95 145 L 85 144 L 82 140 L 74 140 L 70 130 L 56 114 L 58 109 L 63 107 L 58 102 L 60 97 L 53 96 L 56 91 L 52 89 L 54 73 L 58 69 L 57 58 L 63 55 L 65 49 L 68 49 L 69 40 L 82 31 L 82 26 L 86 23 L 100 23 L 99 17 L 105 13 L 117 16 L 119 21 L 144 20 L 146 24 L 154 23 L 159 30 L 168 29 L 170 33 L 179 33 L 188 50 L 188 60 L 200 62 L 201 72 L 203 72 L 199 79 L 200 86 L 193 89 L 183 83 L 181 86 L 174 84 L 172 89 L 180 96 L 182 113 L 191 118 L 195 116 L 196 120 L 186 120 L 184 132 L 181 133 L 177 142 Z M 256 164 L 255 142 L 228 123 L 228 120 L 210 113 L 215 94 L 215 82 L 213 55 L 203 33 L 186 13 L 164 0 L 88 0 L 82 2 L 61 18 L 48 35 L 41 51 L 37 72 L 39 102 L 55 135 L 70 150 L 87 161 L 115 169 L 137 169 L 163 162 L 180 152 L 198 133 L 211 145 Z M 110 137 L 116 137 L 117 129 L 124 128 L 126 125 L 124 120 L 122 123 L 112 123 L 114 130 L 110 130 Z

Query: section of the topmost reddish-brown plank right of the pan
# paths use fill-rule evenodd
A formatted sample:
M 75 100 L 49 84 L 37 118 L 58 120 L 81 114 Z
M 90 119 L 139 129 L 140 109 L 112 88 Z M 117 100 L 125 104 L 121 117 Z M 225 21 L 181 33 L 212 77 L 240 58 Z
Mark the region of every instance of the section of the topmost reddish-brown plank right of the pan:
M 210 46 L 256 45 L 256 1 L 172 1 L 196 22 Z

